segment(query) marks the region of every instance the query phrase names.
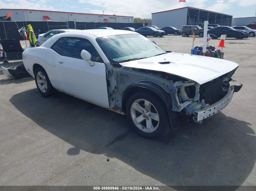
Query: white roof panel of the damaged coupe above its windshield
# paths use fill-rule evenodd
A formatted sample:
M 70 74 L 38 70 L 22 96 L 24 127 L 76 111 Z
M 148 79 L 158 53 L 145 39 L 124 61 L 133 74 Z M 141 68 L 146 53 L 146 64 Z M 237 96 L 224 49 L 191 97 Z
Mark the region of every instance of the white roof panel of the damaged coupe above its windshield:
M 96 37 L 107 37 L 107 36 L 118 35 L 118 34 L 138 34 L 136 32 L 129 31 L 129 30 L 101 30 L 101 29 L 77 30 L 77 31 L 74 31 L 73 34 L 74 33 L 92 34 Z

